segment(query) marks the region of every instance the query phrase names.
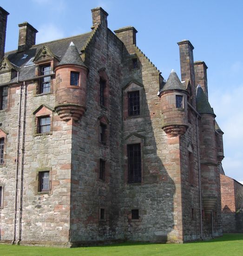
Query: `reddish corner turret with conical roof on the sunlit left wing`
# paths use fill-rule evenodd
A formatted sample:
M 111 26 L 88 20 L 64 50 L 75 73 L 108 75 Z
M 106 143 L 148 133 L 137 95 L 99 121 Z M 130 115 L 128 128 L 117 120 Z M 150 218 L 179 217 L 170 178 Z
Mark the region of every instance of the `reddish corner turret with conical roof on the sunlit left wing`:
M 71 42 L 61 62 L 55 67 L 55 110 L 65 121 L 78 120 L 86 109 L 86 80 L 88 68 L 82 61 L 78 49 Z

